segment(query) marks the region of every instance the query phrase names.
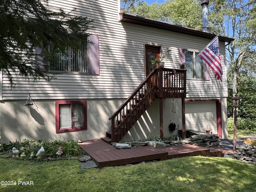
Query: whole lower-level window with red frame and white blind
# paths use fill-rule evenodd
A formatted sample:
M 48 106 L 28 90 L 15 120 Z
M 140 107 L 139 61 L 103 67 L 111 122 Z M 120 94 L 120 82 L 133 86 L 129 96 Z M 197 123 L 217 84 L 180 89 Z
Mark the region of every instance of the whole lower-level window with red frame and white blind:
M 56 101 L 56 133 L 87 129 L 86 101 Z

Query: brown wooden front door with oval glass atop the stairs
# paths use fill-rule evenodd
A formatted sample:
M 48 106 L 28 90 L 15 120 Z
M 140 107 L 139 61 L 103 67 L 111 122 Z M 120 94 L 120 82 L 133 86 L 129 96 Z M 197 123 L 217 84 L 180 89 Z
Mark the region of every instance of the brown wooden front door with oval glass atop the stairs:
M 146 76 L 150 74 L 150 72 L 154 69 L 154 66 L 151 64 L 151 60 L 157 60 L 160 56 L 160 46 L 154 45 L 146 45 L 145 46 L 145 53 L 146 53 Z

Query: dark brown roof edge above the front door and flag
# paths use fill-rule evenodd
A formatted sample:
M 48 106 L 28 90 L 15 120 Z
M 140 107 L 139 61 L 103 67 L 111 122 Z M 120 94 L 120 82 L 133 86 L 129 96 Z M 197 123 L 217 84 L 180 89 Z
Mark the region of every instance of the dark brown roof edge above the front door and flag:
M 178 33 L 202 37 L 202 38 L 208 38 L 211 40 L 216 37 L 216 34 L 187 28 L 178 24 L 172 24 L 170 22 L 162 22 L 160 20 L 150 19 L 150 18 L 146 18 L 144 16 L 140 16 L 136 14 L 126 13 L 124 11 L 120 12 L 120 21 L 158 28 L 158 29 L 164 29 L 172 32 L 178 32 Z M 230 43 L 234 41 L 234 38 L 219 36 L 219 41 Z

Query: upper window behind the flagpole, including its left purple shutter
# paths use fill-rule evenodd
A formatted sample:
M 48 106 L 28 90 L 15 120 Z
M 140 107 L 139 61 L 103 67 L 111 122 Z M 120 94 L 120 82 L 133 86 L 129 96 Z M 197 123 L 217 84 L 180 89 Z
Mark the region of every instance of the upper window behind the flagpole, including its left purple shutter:
M 186 64 L 187 78 L 210 80 L 209 66 L 198 53 L 179 48 L 179 63 Z

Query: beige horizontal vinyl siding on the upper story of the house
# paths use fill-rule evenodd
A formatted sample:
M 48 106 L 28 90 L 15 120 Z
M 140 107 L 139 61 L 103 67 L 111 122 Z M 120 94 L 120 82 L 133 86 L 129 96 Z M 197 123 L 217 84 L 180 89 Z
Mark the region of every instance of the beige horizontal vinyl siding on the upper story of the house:
M 189 48 L 200 52 L 210 40 L 139 26 L 118 21 L 117 0 L 51 0 L 54 6 L 73 10 L 72 14 L 88 16 L 94 20 L 96 29 L 91 34 L 99 36 L 100 75 L 64 73 L 50 82 L 34 81 L 15 76 L 15 88 L 10 88 L 6 75 L 2 80 L 2 99 L 26 99 L 30 93 L 34 100 L 46 99 L 92 99 L 127 98 L 145 78 L 144 44 L 162 46 L 165 67 L 178 68 L 178 48 Z M 168 55 L 166 49 L 172 48 Z M 188 97 L 225 97 L 226 72 L 224 68 L 224 43 L 221 42 L 223 81 L 214 79 L 210 70 L 210 81 L 188 80 Z

